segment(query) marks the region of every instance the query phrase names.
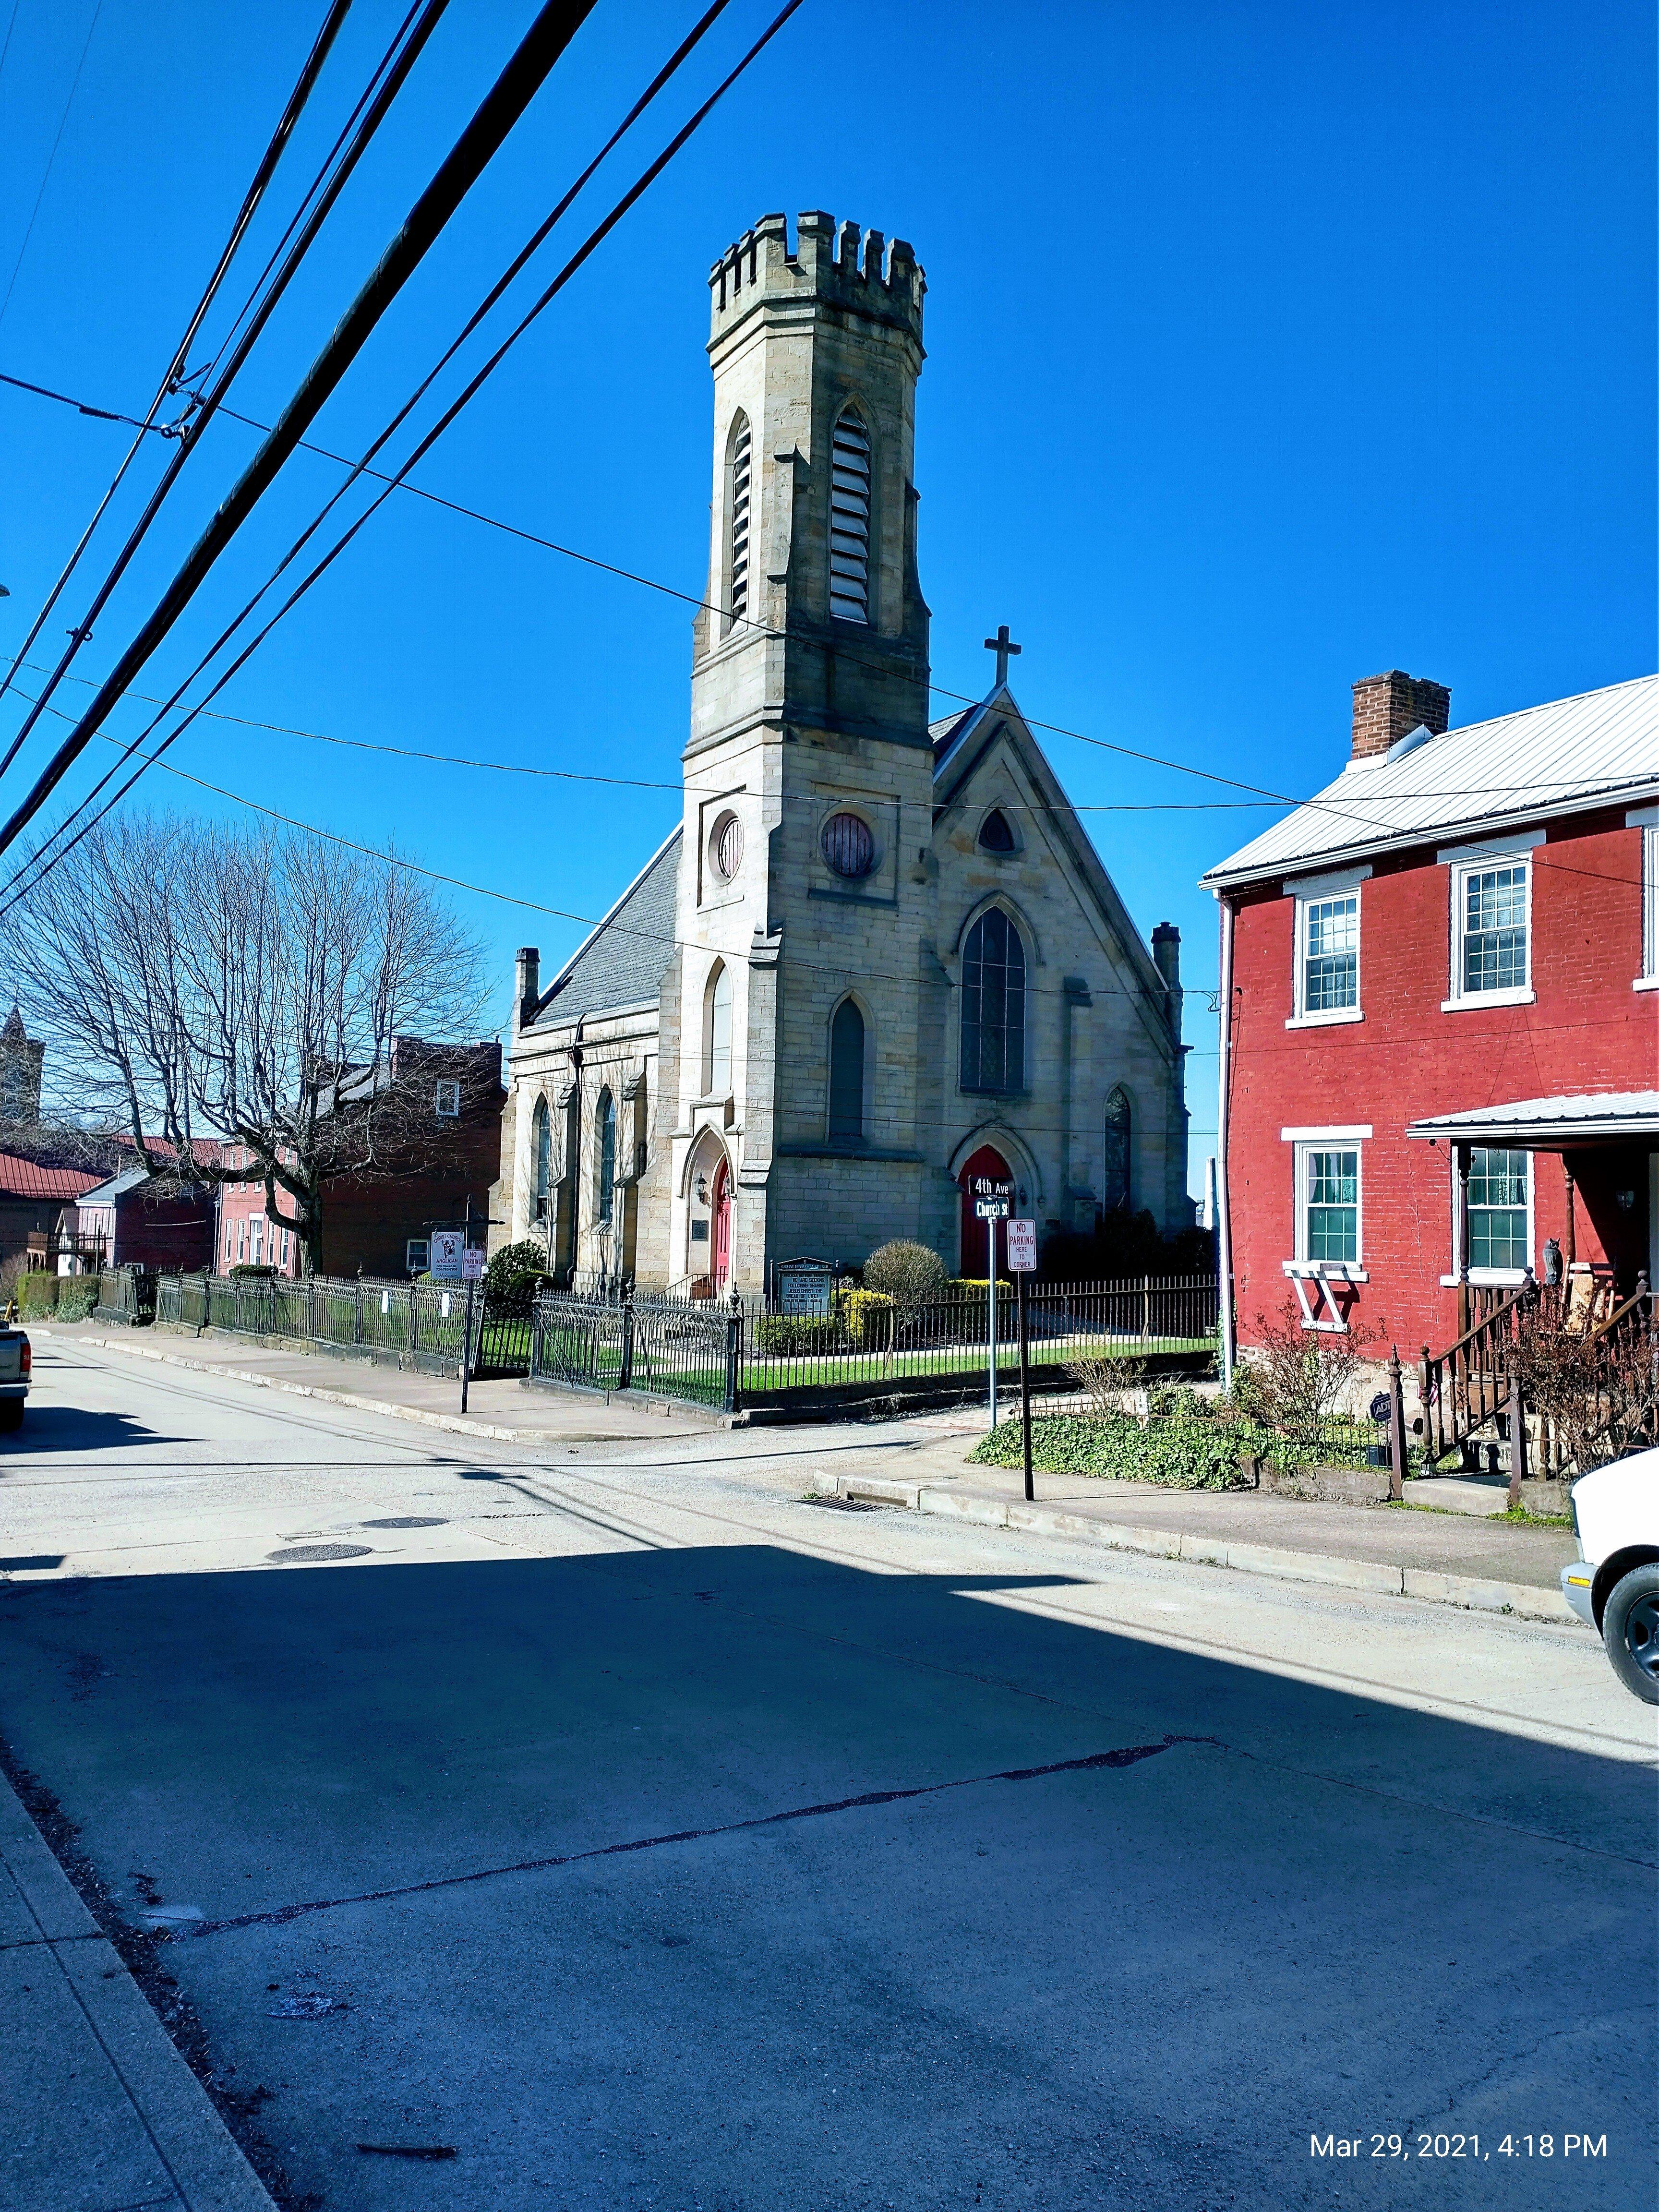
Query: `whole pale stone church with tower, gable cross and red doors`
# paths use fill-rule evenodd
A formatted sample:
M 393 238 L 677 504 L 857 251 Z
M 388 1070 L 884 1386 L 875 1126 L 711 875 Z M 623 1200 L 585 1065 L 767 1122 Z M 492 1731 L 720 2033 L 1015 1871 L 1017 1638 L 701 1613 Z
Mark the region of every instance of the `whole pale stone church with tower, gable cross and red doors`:
M 1040 1234 L 1188 1225 L 1179 933 L 1135 929 L 1006 630 L 927 719 L 911 248 L 768 215 L 710 292 L 684 816 L 553 978 L 518 956 L 495 1243 L 697 1296 L 889 1237 L 984 1276 L 978 1175 Z

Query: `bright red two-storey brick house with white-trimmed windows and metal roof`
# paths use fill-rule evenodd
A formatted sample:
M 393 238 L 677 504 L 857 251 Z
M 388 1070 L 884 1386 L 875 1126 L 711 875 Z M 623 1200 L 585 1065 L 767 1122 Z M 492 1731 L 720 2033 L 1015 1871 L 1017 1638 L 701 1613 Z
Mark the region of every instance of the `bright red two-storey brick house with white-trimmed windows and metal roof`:
M 1340 776 L 1203 878 L 1243 1347 L 1287 1298 L 1416 1358 L 1528 1267 L 1652 1283 L 1659 679 L 1464 730 L 1449 708 L 1400 670 L 1356 684 Z

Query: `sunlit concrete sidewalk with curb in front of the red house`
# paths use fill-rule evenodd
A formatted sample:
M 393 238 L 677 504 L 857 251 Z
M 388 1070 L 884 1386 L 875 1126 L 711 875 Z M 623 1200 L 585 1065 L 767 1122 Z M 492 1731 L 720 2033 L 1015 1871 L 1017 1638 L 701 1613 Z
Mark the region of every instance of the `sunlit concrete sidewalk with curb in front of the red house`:
M 940 1438 L 902 1475 L 836 1469 L 818 1478 L 818 1489 L 849 1502 L 1084 1537 L 1113 1551 L 1429 1597 L 1480 1613 L 1575 1619 L 1559 1590 L 1562 1568 L 1577 1559 L 1566 1531 L 1493 1526 L 1471 1513 L 1298 1504 L 1259 1491 L 1170 1491 L 1093 1475 L 1040 1473 L 1035 1502 L 1026 1504 L 1018 1471 L 962 1467 L 967 1449 L 967 1438 Z

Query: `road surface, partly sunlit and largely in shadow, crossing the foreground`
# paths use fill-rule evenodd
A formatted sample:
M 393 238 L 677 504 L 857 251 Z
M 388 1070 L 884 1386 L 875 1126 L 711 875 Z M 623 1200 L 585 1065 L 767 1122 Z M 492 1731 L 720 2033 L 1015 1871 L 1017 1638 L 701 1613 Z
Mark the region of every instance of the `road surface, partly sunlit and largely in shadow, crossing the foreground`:
M 201 1916 L 290 2203 L 1650 2201 L 1652 1714 L 1588 1632 L 803 1502 L 891 1431 L 35 1374 L 0 1732 Z

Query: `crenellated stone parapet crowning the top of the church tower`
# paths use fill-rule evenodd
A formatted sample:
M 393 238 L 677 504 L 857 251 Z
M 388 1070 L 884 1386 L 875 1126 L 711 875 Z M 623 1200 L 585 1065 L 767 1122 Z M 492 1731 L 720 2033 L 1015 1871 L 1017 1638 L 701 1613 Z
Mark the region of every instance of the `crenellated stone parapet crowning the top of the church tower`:
M 781 215 L 763 215 L 728 246 L 708 272 L 710 345 L 726 338 L 754 307 L 821 301 L 896 325 L 922 343 L 927 276 L 905 239 L 836 223 L 821 208 L 796 217 L 796 248 Z

